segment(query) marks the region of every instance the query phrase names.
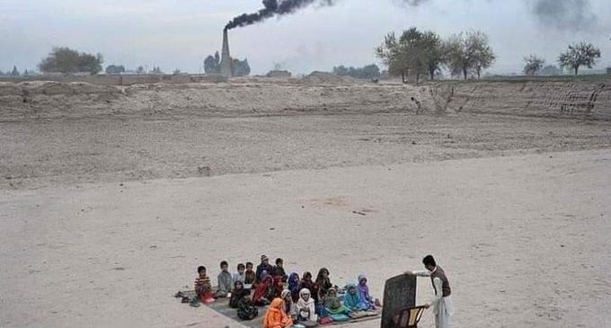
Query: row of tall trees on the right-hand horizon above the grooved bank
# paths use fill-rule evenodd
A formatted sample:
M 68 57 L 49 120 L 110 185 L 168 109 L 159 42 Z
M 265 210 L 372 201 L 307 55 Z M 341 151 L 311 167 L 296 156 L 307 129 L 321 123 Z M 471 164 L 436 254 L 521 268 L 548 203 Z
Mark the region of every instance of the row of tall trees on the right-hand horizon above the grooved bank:
M 483 31 L 462 31 L 442 39 L 434 31 L 421 31 L 412 27 L 400 35 L 390 32 L 385 35 L 382 44 L 376 48 L 376 57 L 382 59 L 388 67 L 388 74 L 402 76 L 403 83 L 407 77 L 415 77 L 416 83 L 421 75 L 429 79 L 441 73 L 445 67 L 451 75 L 462 75 L 466 80 L 469 75 L 482 76 L 483 69 L 490 67 L 496 60 L 491 49 L 488 35 Z M 569 46 L 558 57 L 557 66 L 545 66 L 545 60 L 536 55 L 524 58 L 523 72 L 535 75 L 560 75 L 566 67 L 578 74 L 580 66 L 592 68 L 600 58 L 600 50 L 591 43 L 580 42 Z

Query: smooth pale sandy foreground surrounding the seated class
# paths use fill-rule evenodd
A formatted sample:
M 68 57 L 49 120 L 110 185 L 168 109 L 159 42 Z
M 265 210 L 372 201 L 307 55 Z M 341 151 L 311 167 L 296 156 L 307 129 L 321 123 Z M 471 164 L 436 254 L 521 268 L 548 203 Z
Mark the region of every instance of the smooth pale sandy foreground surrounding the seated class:
M 197 265 L 267 253 L 337 283 L 366 272 L 380 295 L 433 253 L 457 327 L 605 327 L 610 163 L 590 150 L 2 191 L 0 324 L 236 327 L 172 297 Z

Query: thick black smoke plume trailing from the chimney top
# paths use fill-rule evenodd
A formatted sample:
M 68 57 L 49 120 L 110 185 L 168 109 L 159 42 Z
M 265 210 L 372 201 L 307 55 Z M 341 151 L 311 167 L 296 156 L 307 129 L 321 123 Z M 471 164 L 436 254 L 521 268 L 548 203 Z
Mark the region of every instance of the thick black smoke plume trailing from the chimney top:
M 228 22 L 225 30 L 261 22 L 273 16 L 295 13 L 310 4 L 332 5 L 335 0 L 263 0 L 263 8 L 256 13 L 243 13 Z

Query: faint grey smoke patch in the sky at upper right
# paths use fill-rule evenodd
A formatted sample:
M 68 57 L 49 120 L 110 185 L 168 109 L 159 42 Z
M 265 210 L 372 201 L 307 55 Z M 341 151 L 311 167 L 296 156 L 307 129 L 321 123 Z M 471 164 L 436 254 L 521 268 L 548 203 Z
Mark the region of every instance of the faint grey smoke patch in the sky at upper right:
M 535 0 L 531 9 L 540 23 L 561 31 L 588 30 L 597 24 L 589 0 Z

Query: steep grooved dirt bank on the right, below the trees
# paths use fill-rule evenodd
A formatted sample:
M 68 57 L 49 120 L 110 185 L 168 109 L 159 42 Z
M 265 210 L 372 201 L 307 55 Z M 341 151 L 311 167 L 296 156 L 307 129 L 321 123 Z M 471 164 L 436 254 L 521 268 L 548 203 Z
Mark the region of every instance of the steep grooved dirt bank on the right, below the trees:
M 437 111 L 611 120 L 611 79 L 436 84 L 428 100 Z

